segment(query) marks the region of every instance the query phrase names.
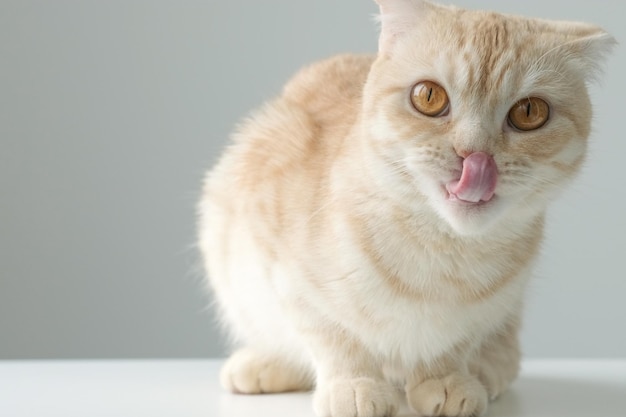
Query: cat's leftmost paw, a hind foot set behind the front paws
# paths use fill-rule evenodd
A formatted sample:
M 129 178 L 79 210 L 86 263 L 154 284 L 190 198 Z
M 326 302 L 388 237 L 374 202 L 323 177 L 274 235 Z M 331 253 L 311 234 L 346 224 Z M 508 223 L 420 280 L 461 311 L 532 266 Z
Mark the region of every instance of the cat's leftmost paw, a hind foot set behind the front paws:
M 222 386 L 238 394 L 305 391 L 312 388 L 310 376 L 277 357 L 251 349 L 235 352 L 220 373 Z

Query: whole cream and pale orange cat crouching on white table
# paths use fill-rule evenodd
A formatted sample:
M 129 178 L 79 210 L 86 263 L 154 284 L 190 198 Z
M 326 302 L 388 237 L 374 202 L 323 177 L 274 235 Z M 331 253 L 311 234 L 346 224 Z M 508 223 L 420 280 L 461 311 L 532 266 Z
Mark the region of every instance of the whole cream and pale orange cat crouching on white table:
M 585 158 L 585 23 L 377 0 L 376 56 L 315 63 L 208 172 L 199 247 L 238 350 L 221 382 L 320 417 L 471 416 L 520 362 L 546 208 Z

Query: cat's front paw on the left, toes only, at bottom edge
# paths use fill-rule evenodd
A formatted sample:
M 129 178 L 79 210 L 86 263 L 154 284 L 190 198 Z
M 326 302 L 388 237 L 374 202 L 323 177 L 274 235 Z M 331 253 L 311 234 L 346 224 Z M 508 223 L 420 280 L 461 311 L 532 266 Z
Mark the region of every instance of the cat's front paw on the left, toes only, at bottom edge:
M 336 379 L 318 386 L 313 408 L 319 417 L 393 417 L 398 411 L 398 398 L 385 381 Z

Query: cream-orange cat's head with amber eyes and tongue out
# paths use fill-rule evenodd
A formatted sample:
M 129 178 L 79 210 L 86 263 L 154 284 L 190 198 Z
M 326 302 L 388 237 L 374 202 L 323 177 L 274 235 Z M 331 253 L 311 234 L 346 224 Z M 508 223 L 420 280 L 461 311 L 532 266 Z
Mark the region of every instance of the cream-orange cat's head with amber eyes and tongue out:
M 583 23 L 377 2 L 361 120 L 379 174 L 463 234 L 543 211 L 583 162 L 587 83 L 614 39 Z

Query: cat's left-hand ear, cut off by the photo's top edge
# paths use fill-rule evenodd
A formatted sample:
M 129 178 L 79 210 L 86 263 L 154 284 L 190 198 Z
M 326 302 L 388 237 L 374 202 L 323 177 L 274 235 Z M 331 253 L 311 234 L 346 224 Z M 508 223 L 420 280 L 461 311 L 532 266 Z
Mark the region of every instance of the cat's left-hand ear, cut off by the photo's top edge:
M 426 19 L 433 5 L 426 0 L 376 0 L 380 8 L 378 50 L 390 54 L 399 38 L 420 20 Z

